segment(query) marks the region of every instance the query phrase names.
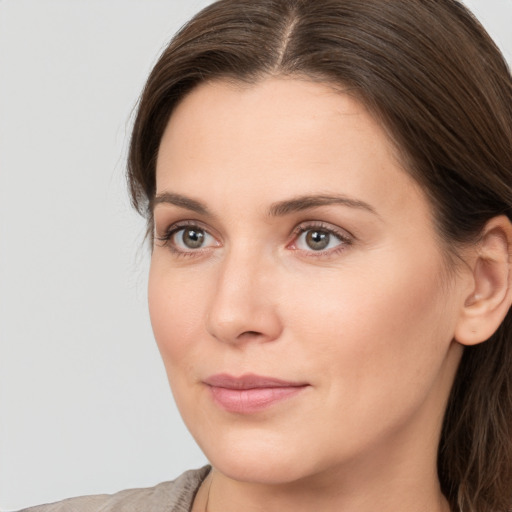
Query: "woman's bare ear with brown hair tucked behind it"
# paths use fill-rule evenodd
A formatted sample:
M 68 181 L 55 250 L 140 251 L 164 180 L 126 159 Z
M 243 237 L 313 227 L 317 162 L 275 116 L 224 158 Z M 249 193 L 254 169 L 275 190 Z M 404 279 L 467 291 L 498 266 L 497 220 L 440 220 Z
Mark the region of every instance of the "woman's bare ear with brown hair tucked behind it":
M 494 217 L 482 230 L 470 263 L 472 284 L 464 297 L 455 340 L 476 345 L 498 329 L 512 304 L 512 224 Z

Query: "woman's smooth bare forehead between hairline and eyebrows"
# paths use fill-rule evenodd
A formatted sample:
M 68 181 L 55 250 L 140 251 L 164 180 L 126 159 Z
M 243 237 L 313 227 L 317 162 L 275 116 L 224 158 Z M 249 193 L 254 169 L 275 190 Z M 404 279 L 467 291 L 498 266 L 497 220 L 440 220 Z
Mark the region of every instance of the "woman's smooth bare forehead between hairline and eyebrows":
M 157 159 L 157 192 L 236 202 L 342 193 L 385 205 L 415 183 L 380 123 L 353 96 L 271 78 L 203 84 L 177 106 Z

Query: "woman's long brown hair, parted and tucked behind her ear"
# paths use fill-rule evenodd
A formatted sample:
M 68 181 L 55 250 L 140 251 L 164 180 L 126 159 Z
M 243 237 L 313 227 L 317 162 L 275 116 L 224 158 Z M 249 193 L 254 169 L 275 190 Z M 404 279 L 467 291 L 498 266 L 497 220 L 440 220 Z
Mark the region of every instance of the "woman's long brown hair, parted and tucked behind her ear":
M 456 0 L 220 0 L 154 67 L 131 139 L 128 178 L 148 219 L 160 140 L 199 83 L 306 76 L 341 86 L 377 116 L 422 185 L 449 247 L 512 216 L 512 80 L 491 38 Z M 438 456 L 453 510 L 512 506 L 512 316 L 466 348 Z

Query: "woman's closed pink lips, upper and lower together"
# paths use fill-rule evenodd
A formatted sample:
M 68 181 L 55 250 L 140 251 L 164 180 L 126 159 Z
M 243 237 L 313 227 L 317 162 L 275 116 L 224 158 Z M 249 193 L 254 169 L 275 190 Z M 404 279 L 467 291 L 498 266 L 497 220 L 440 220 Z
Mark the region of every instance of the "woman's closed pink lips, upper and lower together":
M 205 381 L 213 400 L 228 412 L 251 414 L 300 393 L 308 384 L 246 374 L 219 374 Z

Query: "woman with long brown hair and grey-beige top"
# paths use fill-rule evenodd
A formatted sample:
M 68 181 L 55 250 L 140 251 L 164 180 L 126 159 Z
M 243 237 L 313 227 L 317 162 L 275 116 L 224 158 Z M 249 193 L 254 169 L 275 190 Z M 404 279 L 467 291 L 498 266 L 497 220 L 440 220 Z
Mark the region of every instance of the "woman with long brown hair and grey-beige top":
M 454 0 L 221 0 L 129 157 L 212 468 L 41 510 L 512 506 L 512 87 Z

